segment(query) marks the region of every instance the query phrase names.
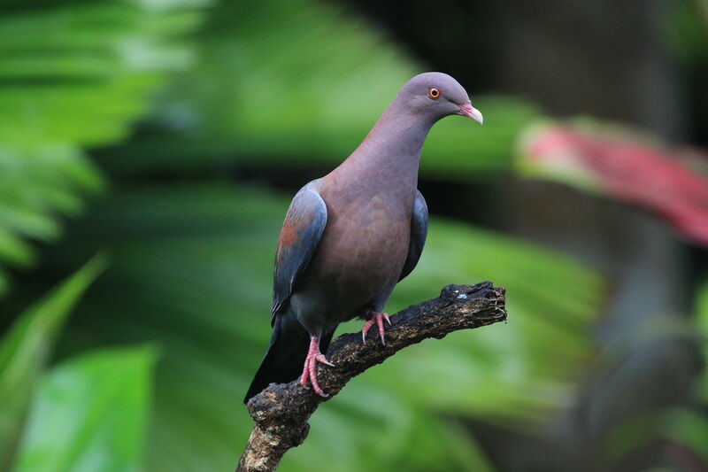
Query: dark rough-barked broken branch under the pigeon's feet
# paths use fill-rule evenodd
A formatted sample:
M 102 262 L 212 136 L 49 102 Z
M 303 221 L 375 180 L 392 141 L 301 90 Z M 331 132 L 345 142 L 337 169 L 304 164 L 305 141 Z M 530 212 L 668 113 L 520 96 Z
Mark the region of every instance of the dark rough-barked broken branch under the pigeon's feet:
M 381 364 L 406 346 L 428 337 L 442 339 L 458 329 L 473 329 L 506 320 L 504 289 L 491 282 L 476 285 L 448 285 L 439 298 L 409 306 L 391 316 L 386 345 L 378 337 L 361 342 L 359 334 L 338 337 L 327 350 L 335 368 L 319 366 L 319 386 L 329 393 L 321 398 L 296 380 L 271 383 L 250 398 L 248 409 L 256 426 L 239 461 L 237 472 L 275 470 L 282 455 L 303 444 L 310 429 L 307 420 L 319 404 L 334 397 L 344 385 L 367 368 Z

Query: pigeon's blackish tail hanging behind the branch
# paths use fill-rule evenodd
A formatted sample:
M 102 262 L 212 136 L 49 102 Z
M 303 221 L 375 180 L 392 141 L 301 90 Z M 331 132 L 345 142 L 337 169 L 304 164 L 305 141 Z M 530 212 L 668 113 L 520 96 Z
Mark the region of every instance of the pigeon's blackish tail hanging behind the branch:
M 319 340 L 319 350 L 327 352 L 332 333 L 323 334 Z M 258 372 L 250 383 L 243 403 L 263 391 L 271 383 L 289 383 L 303 373 L 304 358 L 310 346 L 310 334 L 289 313 L 277 315 L 273 325 L 273 336 L 266 356 L 260 363 Z

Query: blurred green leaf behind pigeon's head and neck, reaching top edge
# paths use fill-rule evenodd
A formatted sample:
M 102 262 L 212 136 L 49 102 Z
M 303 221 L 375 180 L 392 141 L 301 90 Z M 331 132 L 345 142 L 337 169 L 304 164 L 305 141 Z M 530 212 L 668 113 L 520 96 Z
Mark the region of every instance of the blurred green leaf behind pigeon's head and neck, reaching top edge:
M 102 153 L 104 164 L 182 174 L 254 160 L 334 166 L 425 70 L 352 12 L 319 0 L 222 2 L 197 48 L 196 66 L 161 94 L 150 133 Z M 423 174 L 479 179 L 509 165 L 514 136 L 535 108 L 510 97 L 472 101 L 484 126 L 459 117 L 438 123 Z

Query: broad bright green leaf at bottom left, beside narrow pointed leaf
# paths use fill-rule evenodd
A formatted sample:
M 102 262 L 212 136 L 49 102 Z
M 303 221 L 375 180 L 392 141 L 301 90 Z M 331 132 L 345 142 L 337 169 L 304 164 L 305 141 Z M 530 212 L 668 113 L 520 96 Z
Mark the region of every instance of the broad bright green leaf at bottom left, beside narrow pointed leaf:
M 44 375 L 13 472 L 135 472 L 150 404 L 150 348 L 90 352 Z

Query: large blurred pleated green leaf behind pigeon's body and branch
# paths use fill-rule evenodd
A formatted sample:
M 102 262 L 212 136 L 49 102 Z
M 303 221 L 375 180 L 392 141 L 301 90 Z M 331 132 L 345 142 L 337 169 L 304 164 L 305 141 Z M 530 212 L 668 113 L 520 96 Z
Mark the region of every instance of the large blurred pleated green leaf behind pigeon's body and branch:
M 47 252 L 62 268 L 97 247 L 112 248 L 115 260 L 73 317 L 63 351 L 156 341 L 165 356 L 147 468 L 233 467 L 235 445 L 252 426 L 240 398 L 269 337 L 273 245 L 288 198 L 217 183 L 115 190 Z M 367 371 L 318 410 L 307 443 L 282 469 L 468 469 L 485 459 L 453 418 L 527 429 L 566 404 L 603 299 L 597 275 L 434 219 L 419 267 L 388 308 L 433 298 L 449 282 L 487 278 L 508 289 L 509 324 L 413 346 Z

